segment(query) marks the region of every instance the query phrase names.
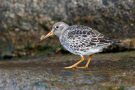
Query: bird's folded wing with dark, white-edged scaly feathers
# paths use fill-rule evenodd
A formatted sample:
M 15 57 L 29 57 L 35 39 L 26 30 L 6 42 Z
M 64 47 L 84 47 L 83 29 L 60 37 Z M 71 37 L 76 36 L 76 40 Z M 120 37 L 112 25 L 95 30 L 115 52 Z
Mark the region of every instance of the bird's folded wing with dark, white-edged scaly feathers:
M 70 26 L 66 32 L 64 36 L 69 48 L 76 51 L 86 51 L 91 47 L 105 46 L 110 43 L 103 34 L 87 26 Z

